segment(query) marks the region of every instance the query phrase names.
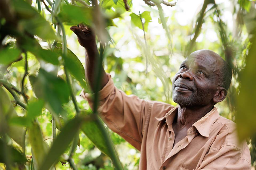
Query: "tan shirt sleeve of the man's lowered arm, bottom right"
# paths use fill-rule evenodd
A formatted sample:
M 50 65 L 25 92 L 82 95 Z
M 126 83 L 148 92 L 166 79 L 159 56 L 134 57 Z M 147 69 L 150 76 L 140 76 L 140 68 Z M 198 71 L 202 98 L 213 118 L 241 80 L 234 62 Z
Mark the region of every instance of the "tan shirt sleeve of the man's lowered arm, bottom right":
M 242 151 L 240 147 L 235 145 L 222 146 L 208 152 L 198 170 L 250 170 L 251 164 L 245 158 L 247 155 L 250 155 L 250 152 L 247 152 L 249 150 Z

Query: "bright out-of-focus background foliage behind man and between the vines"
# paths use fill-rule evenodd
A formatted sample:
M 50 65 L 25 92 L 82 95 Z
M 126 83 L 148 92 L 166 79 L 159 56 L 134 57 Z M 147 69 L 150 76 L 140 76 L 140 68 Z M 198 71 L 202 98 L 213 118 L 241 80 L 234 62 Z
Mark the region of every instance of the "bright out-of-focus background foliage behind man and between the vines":
M 32 6 L 37 9 L 37 2 L 41 3 L 41 15 L 51 23 L 51 14 L 45 9 L 41 1 L 33 0 Z M 70 4 L 74 2 L 78 6 L 82 6 L 79 1 L 68 1 Z M 90 4 L 89 1 L 85 2 Z M 100 2 L 102 3 L 102 1 Z M 246 73 L 244 71 L 247 63 L 246 56 L 250 54 L 249 49 L 253 42 L 256 21 L 255 1 L 218 0 L 215 1 L 215 5 L 209 1 L 208 3 L 210 4 L 206 7 L 203 18 L 200 18 L 202 8 L 204 8 L 203 3 L 206 2 L 208 1 L 179 0 L 173 7 L 162 5 L 163 15 L 167 24 L 166 29 L 163 29 L 156 6 L 150 7 L 144 1 L 134 0 L 132 1 L 132 5 L 128 1 L 131 6 L 130 11 L 125 11 L 123 1 L 118 0 L 117 6 L 119 7 L 112 4 L 110 9 L 116 13 L 118 9 L 121 9 L 119 11 L 121 17 L 113 19 L 115 26 L 107 27 L 111 42 L 109 42 L 109 46 L 106 48 L 108 51 L 105 49 L 107 55 L 104 58 L 104 67 L 106 72 L 112 75 L 115 85 L 126 94 L 135 94 L 142 99 L 163 101 L 176 105 L 171 100 L 171 81 L 174 74 L 178 71 L 180 63 L 187 56 L 188 51 L 191 52 L 198 49 L 213 50 L 220 54 L 234 68 L 229 95 L 225 101 L 217 104 L 218 111 L 223 117 L 236 121 L 239 125 L 239 120 L 236 119 L 235 106 L 242 99 L 237 100 L 236 96 L 241 86 L 240 82 L 242 78 L 240 77 Z M 149 12 L 142 19 L 142 22 L 145 20 L 144 26 L 148 23 L 147 29 L 145 27 L 143 31 L 141 25 L 139 25 L 140 23 L 136 21 L 136 17 L 131 17 L 131 12 L 139 16 L 144 11 Z M 202 25 L 199 24 L 200 22 Z M 77 37 L 69 27 L 69 24 L 64 24 L 67 47 L 84 64 L 84 48 L 79 45 Z M 197 28 L 200 29 L 197 31 Z M 36 38 L 44 49 L 50 48 L 52 41 L 42 40 L 39 37 Z M 13 40 L 10 36 L 6 37 L 3 44 Z M 100 44 L 98 42 L 99 46 Z M 30 75 L 37 74 L 40 67 L 48 72 L 56 70 L 56 66 L 43 60 L 38 60 L 31 53 L 28 53 L 27 61 Z M 14 86 L 19 86 L 21 83 L 25 73 L 24 65 L 24 60 L 15 62 L 8 67 L 9 73 L 5 73 L 5 75 L 10 76 L 9 82 Z M 65 79 L 63 66 L 57 68 L 57 73 L 59 77 Z M 25 84 L 26 94 L 32 100 L 36 96 L 28 78 L 25 79 Z M 88 103 L 79 96 L 82 87 L 74 78 L 72 78 L 72 87 L 75 91 L 79 108 L 89 109 Z M 8 95 L 13 100 L 9 93 Z M 21 100 L 23 101 L 22 98 Z M 71 100 L 65 103 L 63 108 L 67 119 L 75 116 L 75 108 Z M 250 110 L 251 108 L 247 109 Z M 26 115 L 26 112 L 20 107 L 15 107 L 15 111 L 18 116 Z M 251 115 L 246 116 L 250 117 Z M 51 146 L 51 113 L 49 110 L 43 108 L 42 114 L 37 118 L 42 129 L 43 138 L 47 139 L 46 142 Z M 248 123 L 252 125 L 248 128 L 253 129 L 253 119 L 251 120 L 252 122 L 247 121 L 248 119 L 242 120 L 240 125 L 242 126 Z M 240 131 L 242 135 L 240 136 L 241 138 L 247 139 L 251 150 L 252 166 L 254 167 L 256 159 L 255 143 L 252 141 L 254 130 L 249 130 L 249 134 L 245 131 L 245 129 L 242 129 Z M 125 142 L 116 133 L 113 133 L 109 129 L 108 132 L 124 169 L 138 169 L 139 151 Z M 58 133 L 59 131 L 57 130 Z M 26 154 L 32 155 L 31 144 L 28 138 L 29 136 L 26 135 Z M 111 160 L 102 154 L 84 133 L 79 133 L 79 139 L 80 147 L 77 146 L 73 155 L 78 169 L 113 169 Z M 9 145 L 21 149 L 13 139 L 8 138 L 7 142 Z M 29 166 L 30 161 L 25 164 L 25 168 L 29 169 Z M 3 163 L 0 163 L 1 168 L 5 169 Z M 66 166 L 62 166 L 60 162 L 56 164 L 56 169 L 69 168 L 69 164 Z

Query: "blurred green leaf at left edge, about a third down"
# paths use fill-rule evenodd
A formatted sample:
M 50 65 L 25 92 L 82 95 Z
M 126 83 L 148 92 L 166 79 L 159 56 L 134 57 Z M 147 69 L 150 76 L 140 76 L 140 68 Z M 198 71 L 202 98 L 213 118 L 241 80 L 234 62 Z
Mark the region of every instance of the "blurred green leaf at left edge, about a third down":
M 21 50 L 17 48 L 3 48 L 0 50 L 0 65 L 10 65 L 21 56 Z

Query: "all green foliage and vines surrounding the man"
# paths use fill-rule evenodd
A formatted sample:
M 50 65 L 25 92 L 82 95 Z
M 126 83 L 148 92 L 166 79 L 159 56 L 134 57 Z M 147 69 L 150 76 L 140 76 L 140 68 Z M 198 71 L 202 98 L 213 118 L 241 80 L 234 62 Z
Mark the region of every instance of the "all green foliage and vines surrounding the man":
M 95 13 L 89 0 L 0 1 L 0 169 L 112 170 L 122 169 L 120 162 L 138 169 L 139 151 L 79 96 L 82 88 L 89 91 L 84 49 L 69 29 L 79 23 L 96 30 L 98 47 L 106 37 L 99 49 L 106 72 L 119 89 L 142 99 L 176 105 L 171 80 L 186 55 L 198 49 L 220 54 L 233 79 L 217 107 L 237 122 L 256 166 L 255 1 L 145 2 L 153 5 L 101 0 Z

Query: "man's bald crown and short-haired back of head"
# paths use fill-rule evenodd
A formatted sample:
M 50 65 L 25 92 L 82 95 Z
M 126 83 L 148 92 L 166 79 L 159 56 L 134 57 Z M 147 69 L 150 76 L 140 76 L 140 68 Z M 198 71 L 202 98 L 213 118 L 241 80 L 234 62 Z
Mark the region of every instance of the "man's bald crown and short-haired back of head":
M 229 64 L 223 60 L 219 54 L 211 50 L 197 50 L 191 53 L 190 56 L 199 56 L 205 58 L 211 62 L 213 71 L 218 75 L 219 82 L 218 86 L 224 87 L 226 90 L 229 89 L 231 79 L 232 79 L 232 70 Z

